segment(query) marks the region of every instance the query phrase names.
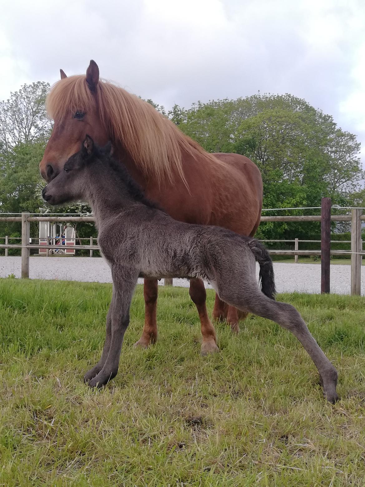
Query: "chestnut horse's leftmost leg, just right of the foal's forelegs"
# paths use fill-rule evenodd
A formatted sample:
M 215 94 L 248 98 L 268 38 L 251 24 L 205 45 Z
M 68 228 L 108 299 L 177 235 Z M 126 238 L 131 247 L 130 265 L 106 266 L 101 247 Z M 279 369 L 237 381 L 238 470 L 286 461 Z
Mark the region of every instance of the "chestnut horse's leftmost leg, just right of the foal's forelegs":
M 134 344 L 135 347 L 147 348 L 157 341 L 157 279 L 145 279 L 143 296 L 145 298 L 145 326 L 141 338 Z

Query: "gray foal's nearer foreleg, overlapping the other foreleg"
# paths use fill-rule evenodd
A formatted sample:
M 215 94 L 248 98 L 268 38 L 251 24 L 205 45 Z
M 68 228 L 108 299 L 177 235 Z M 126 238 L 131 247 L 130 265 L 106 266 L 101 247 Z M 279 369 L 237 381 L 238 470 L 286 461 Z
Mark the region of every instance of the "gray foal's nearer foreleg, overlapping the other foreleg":
M 123 338 L 129 324 L 130 302 L 138 279 L 138 272 L 122 268 L 121 266 L 113 266 L 111 275 L 114 294 L 111 309 L 109 352 L 102 369 L 89 381 L 90 387 L 102 387 L 115 377 L 118 372 Z

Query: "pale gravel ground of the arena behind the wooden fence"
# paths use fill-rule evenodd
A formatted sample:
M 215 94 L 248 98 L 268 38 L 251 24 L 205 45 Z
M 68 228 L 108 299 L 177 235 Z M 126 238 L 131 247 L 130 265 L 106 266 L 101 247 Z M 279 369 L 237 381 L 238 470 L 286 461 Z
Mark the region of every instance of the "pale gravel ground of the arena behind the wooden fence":
M 110 268 L 100 257 L 32 256 L 29 269 L 31 279 L 111 282 Z M 258 275 L 258 265 L 256 270 Z M 274 271 L 278 292 L 319 293 L 321 290 L 320 264 L 274 262 Z M 0 277 L 7 277 L 9 274 L 20 277 L 20 257 L 0 257 Z M 142 279 L 139 282 L 142 283 Z M 160 281 L 160 284 L 163 283 L 163 280 Z M 174 279 L 174 285 L 188 287 L 189 284 L 185 279 Z M 350 293 L 350 265 L 331 265 L 331 292 Z M 361 276 L 361 294 L 365 294 L 365 272 Z

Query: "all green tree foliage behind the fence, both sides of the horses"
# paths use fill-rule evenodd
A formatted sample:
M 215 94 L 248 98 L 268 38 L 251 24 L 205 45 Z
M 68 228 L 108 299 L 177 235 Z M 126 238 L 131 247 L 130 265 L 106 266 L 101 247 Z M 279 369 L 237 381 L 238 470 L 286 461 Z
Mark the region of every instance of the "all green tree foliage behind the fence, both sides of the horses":
M 47 211 L 38 164 L 51 130 L 44 104 L 48 89 L 44 82 L 24 85 L 0 103 L 0 212 Z M 146 101 L 207 151 L 237 152 L 253 160 L 262 174 L 264 208 L 320 206 L 323 196 L 337 205 L 365 205 L 356 136 L 341 130 L 330 115 L 304 99 L 258 93 L 197 102 L 189 109 L 174 105 L 168 112 L 151 99 Z M 59 211 L 84 213 L 89 208 Z M 257 235 L 303 239 L 318 229 L 316 223 L 266 223 Z M 82 228 L 84 232 L 91 235 L 91 227 Z M 3 225 L 0 233 L 4 235 Z

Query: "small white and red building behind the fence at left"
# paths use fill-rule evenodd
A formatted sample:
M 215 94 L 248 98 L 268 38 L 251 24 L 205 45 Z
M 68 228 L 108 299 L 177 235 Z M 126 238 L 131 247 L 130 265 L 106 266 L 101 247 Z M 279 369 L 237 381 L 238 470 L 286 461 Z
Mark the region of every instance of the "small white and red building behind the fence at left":
M 67 248 L 75 245 L 75 229 L 67 223 L 39 222 L 39 245 L 57 245 L 50 248 L 50 254 L 74 255 L 75 249 Z M 45 255 L 47 249 L 40 248 L 39 255 Z

